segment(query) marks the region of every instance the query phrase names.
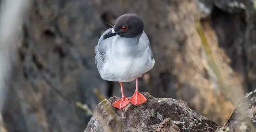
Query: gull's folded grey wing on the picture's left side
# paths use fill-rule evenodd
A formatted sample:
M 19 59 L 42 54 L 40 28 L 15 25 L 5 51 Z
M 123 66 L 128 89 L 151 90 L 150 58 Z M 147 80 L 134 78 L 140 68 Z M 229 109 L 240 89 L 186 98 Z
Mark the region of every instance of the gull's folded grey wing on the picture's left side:
M 103 41 L 103 36 L 104 34 L 106 34 L 107 32 L 109 32 L 109 30 L 112 30 L 112 28 L 107 29 L 99 38 L 98 44 L 97 46 L 95 46 L 94 48 L 94 52 L 95 52 L 95 64 L 97 65 L 98 70 L 100 70 L 104 64 L 107 63 L 107 55 L 106 55 L 106 51 L 107 51 L 107 42 Z

